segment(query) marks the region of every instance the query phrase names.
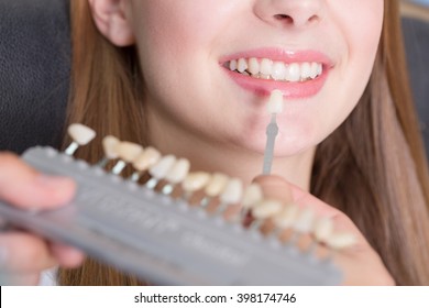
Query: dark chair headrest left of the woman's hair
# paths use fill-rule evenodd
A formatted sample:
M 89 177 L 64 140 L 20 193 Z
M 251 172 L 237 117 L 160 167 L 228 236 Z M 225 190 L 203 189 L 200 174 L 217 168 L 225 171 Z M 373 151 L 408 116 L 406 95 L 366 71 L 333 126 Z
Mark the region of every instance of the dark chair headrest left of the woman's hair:
M 68 4 L 0 1 L 0 150 L 59 144 L 69 89 Z

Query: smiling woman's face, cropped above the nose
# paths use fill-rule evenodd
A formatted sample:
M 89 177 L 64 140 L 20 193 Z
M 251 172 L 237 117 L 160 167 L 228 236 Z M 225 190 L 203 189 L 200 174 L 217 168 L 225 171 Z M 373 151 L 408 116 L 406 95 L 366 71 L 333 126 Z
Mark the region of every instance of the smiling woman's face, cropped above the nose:
M 262 153 L 267 98 L 279 89 L 276 155 L 314 148 L 367 84 L 383 8 L 383 0 L 130 0 L 156 138 Z

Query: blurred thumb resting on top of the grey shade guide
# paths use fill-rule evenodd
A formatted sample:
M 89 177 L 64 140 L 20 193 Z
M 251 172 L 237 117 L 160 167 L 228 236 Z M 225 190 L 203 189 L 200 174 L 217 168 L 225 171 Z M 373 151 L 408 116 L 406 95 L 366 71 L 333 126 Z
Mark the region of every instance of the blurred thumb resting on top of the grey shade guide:
M 16 155 L 0 153 L 0 199 L 21 208 L 52 208 L 75 194 L 72 179 L 42 175 Z

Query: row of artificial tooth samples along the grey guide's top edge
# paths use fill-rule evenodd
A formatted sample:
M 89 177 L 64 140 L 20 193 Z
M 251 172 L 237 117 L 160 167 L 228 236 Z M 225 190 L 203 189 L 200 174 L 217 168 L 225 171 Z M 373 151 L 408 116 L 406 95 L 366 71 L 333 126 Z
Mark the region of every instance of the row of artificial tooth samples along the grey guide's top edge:
M 72 153 L 79 145 L 86 145 L 96 135 L 95 131 L 81 125 L 73 124 L 68 129 L 73 143 L 66 153 Z M 218 202 L 217 212 L 223 212 L 230 206 L 240 205 L 241 218 L 248 212 L 256 221 L 272 220 L 277 230 L 294 230 L 298 234 L 312 234 L 315 240 L 324 243 L 334 250 L 342 250 L 352 246 L 355 239 L 350 233 L 334 232 L 333 222 L 330 218 L 317 217 L 308 208 L 300 208 L 297 205 L 285 205 L 278 200 L 266 199 L 260 185 L 252 184 L 244 187 L 239 178 L 231 178 L 226 174 L 206 172 L 190 172 L 189 161 L 177 158 L 174 155 L 162 155 L 156 148 L 120 141 L 114 136 L 106 136 L 102 141 L 105 158 L 99 163 L 106 165 L 106 161 L 118 161 L 111 172 L 119 175 L 130 164 L 135 169 L 131 179 L 138 182 L 144 174 L 151 179 L 145 185 L 153 189 L 158 183 L 166 183 L 162 189 L 169 195 L 176 186 L 180 186 L 183 196 L 189 200 L 195 194 L 202 191 L 205 198 L 200 205 L 205 206 L 210 201 Z

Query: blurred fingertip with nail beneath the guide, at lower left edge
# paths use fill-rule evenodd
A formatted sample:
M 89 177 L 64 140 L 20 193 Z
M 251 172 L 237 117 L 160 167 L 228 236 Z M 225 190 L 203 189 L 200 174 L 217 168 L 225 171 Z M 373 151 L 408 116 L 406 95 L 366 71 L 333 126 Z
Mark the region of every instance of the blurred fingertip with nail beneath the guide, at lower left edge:
M 0 233 L 0 272 L 35 273 L 57 264 L 46 242 L 23 232 Z

